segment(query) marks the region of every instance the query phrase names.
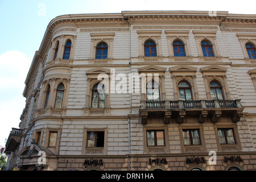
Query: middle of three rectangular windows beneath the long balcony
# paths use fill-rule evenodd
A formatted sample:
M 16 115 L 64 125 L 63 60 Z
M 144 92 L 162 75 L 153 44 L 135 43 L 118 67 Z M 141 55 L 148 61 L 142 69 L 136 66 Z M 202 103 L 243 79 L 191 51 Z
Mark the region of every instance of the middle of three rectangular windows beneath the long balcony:
M 199 130 L 183 130 L 183 140 L 185 145 L 201 144 Z

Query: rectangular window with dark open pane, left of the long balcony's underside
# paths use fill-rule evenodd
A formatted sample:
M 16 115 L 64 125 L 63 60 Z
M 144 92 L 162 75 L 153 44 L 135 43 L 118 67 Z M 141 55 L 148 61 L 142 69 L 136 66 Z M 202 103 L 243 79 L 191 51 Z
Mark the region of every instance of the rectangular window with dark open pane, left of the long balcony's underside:
M 104 147 L 104 131 L 88 131 L 87 147 Z

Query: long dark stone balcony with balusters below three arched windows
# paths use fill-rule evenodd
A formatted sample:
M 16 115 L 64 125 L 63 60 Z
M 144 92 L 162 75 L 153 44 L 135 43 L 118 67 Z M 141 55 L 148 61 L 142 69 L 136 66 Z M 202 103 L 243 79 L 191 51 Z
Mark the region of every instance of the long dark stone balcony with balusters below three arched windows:
M 237 123 L 242 117 L 241 100 L 198 100 L 198 101 L 141 101 L 141 121 L 147 123 L 151 115 L 159 115 L 168 124 L 171 118 L 177 123 L 183 123 L 184 118 L 198 118 L 199 123 L 205 122 L 207 117 L 212 123 L 218 122 L 220 117 L 231 117 Z

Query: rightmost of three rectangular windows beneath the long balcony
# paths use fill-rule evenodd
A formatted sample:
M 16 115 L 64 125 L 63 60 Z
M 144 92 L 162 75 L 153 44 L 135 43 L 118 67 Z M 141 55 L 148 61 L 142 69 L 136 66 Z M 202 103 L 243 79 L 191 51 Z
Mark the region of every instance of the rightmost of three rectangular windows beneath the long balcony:
M 233 129 L 218 129 L 218 138 L 220 139 L 220 144 L 236 143 Z

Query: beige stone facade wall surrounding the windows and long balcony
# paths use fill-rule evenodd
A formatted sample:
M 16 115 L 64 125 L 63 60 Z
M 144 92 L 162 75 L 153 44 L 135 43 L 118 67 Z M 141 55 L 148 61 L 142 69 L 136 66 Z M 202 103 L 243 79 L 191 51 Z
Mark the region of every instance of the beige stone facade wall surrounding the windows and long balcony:
M 199 15 L 201 14 L 199 13 Z M 86 18 L 86 15 L 82 18 Z M 220 27 L 219 22 L 214 22 L 214 19 L 212 19 L 213 22 L 208 20 L 208 24 L 202 24 L 200 20 L 197 23 L 191 22 L 189 18 L 187 23 L 179 22 L 180 19 L 178 18 L 175 19 L 175 26 L 172 26 L 170 22 L 166 22 L 168 18 L 160 18 L 157 21 L 151 16 L 144 18 L 141 17 L 139 20 L 130 18 L 129 23 L 124 23 L 125 20 L 122 18 L 121 22 L 118 23 L 118 18 L 115 21 L 113 18 L 109 20 L 111 23 L 106 24 L 102 23 L 104 22 L 103 19 L 100 22 L 95 20 L 94 23 L 88 19 L 88 22 L 87 20 L 81 21 L 85 24 L 77 24 L 76 28 L 71 25 L 72 22 L 69 22 L 71 24 L 60 23 L 49 30 L 48 34 L 52 35 L 51 39 L 47 39 L 48 43 L 44 47 L 44 52 L 41 53 L 41 58 L 34 60 L 34 69 L 30 71 L 31 73 L 28 75 L 30 77 L 26 81 L 28 85 L 24 90 L 24 96 L 27 101 L 20 123 L 25 134 L 22 147 L 30 145 L 36 132 L 41 131 L 40 145 L 47 148 L 49 138 L 47 132 L 49 130 L 58 131 L 57 146 L 56 148 L 49 148 L 49 150 L 55 155 L 61 156 L 59 158 L 59 170 L 82 169 L 82 161 L 86 159 L 86 155 L 96 156 L 96 158 L 102 155 L 167 155 L 168 166 L 164 166 L 164 168 L 187 170 L 189 166 L 185 164 L 184 156 L 185 154 L 190 155 L 191 152 L 202 155 L 209 151 L 231 152 L 232 154 L 235 152 L 255 152 L 256 90 L 253 80 L 251 80 L 252 76 L 248 73 L 255 68 L 255 60 L 246 59 L 245 50 L 241 46 L 241 39 L 237 35 L 237 33 L 248 31 L 250 34 L 247 36 L 249 38 L 251 36 L 251 40 L 254 41 L 256 34 L 254 25 L 247 24 L 247 29 L 243 29 L 242 24 L 240 24 L 241 27 L 238 31 L 230 31 L 230 27 Z M 200 40 L 205 38 L 214 44 L 216 57 L 207 59 L 201 56 Z M 53 60 L 54 46 L 52 45 L 57 40 L 63 43 L 67 39 L 72 40 L 70 59 L 61 59 L 62 46 L 59 47 L 61 53 L 58 53 L 57 59 Z M 158 57 L 154 59 L 147 59 L 143 56 L 142 44 L 147 39 L 153 39 L 157 43 Z M 179 59 L 173 56 L 173 52 L 170 51 L 170 41 L 175 39 L 184 40 L 187 57 Z M 246 37 L 246 39 L 248 38 Z M 95 46 L 101 41 L 105 41 L 109 45 L 109 57 L 106 60 L 95 59 Z M 165 100 L 175 100 L 175 74 L 177 81 L 184 78 L 193 82 L 192 95 L 194 100 L 195 98 L 208 100 L 208 88 L 205 85 L 207 81 L 205 79 L 212 79 L 213 77 L 225 83 L 223 87 L 226 100 L 229 97 L 230 100 L 241 99 L 241 104 L 245 107 L 243 117 L 237 124 L 232 123 L 230 117 L 222 117 L 217 123 L 210 122 L 209 118 L 204 123 L 199 123 L 197 118 L 185 118 L 184 123 L 177 124 L 175 119 L 171 119 L 171 123 L 168 125 L 164 125 L 163 117 L 149 117 L 147 125 L 142 125 L 139 115 L 142 100 L 141 86 L 140 93 L 130 94 L 127 89 L 127 93 L 109 94 L 108 108 L 101 110 L 89 108 L 91 102 L 91 98 L 88 100 L 88 96 L 91 97 L 90 88 L 96 82 L 95 75 L 90 71 L 108 72 L 107 75 L 110 75 L 110 69 L 114 69 L 115 75 L 124 73 L 128 79 L 129 73 L 138 73 L 138 69 L 147 66 L 166 69 L 163 73 L 163 82 L 160 81 L 162 86 L 161 100 L 163 97 Z M 193 73 L 184 71 L 184 73 L 174 74 L 170 72 L 170 68 L 178 66 L 194 68 L 195 70 L 193 69 Z M 208 66 L 220 67 L 226 71 L 221 70 L 216 74 L 214 73 L 214 76 L 210 75 L 208 78 L 204 78 L 204 73 L 200 69 Z M 88 72 L 90 73 L 88 74 Z M 89 82 L 90 78 L 92 78 L 91 82 Z M 55 81 L 65 83 L 63 108 L 55 109 L 53 104 L 51 107 L 44 108 L 46 86 L 47 84 L 54 85 Z M 119 80 L 115 80 L 115 84 L 118 82 Z M 55 88 L 51 89 L 51 102 L 53 103 L 56 97 L 56 85 Z M 192 129 L 193 127 L 200 129 L 201 146 L 186 148 L 181 136 L 182 129 Z M 235 147 L 223 148 L 218 144 L 218 127 L 232 127 L 236 130 L 237 145 Z M 166 146 L 148 148 L 146 146 L 147 129 L 163 129 L 166 135 Z M 87 151 L 86 131 L 92 130 L 105 131 L 105 144 L 101 151 Z M 170 154 L 174 156 L 168 157 Z M 184 156 L 175 156 L 180 154 Z M 245 170 L 255 169 L 254 156 L 245 153 L 241 153 L 241 155 L 244 157 L 241 167 Z M 72 158 L 72 156 L 76 157 Z M 80 158 L 79 156 L 84 157 Z M 146 164 L 146 159 L 148 158 L 143 156 L 131 158 L 129 165 L 133 170 L 151 169 Z M 104 158 L 103 160 L 105 166 L 101 166 L 101 170 L 129 168 L 127 158 Z M 205 165 L 203 167 L 207 170 L 224 170 L 226 166 L 221 159 L 218 159 L 217 166 Z

